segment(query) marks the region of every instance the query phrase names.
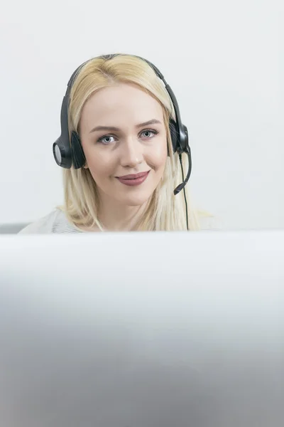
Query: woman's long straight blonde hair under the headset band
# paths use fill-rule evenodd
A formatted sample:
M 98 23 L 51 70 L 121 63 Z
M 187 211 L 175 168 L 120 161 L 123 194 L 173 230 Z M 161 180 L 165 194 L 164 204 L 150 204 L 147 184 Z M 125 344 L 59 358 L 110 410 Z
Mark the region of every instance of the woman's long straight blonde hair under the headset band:
M 169 120 L 175 120 L 173 103 L 162 80 L 146 61 L 131 55 L 118 55 L 113 58 L 94 58 L 85 63 L 75 78 L 70 91 L 68 109 L 69 132 L 75 130 L 80 135 L 80 117 L 85 102 L 97 90 L 114 83 L 134 83 L 146 93 L 155 97 L 163 107 L 163 117 L 167 132 L 169 156 L 166 160 L 163 179 L 153 192 L 137 231 L 182 231 L 187 230 L 185 199 L 182 191 L 175 196 L 173 190 L 182 182 L 180 160 L 173 153 Z M 187 171 L 187 155 L 182 154 L 182 164 Z M 65 203 L 60 209 L 75 226 L 104 230 L 98 218 L 99 193 L 97 184 L 89 169 L 63 169 Z M 199 230 L 197 213 L 192 207 L 188 184 L 187 215 L 189 230 Z

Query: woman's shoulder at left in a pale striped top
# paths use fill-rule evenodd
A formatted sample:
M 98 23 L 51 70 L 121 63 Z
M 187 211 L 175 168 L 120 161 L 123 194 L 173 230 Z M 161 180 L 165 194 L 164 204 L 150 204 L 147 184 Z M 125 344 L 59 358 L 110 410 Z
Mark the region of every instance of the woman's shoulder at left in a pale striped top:
M 60 209 L 55 209 L 50 214 L 43 216 L 25 228 L 18 234 L 48 234 L 48 233 L 80 233 Z

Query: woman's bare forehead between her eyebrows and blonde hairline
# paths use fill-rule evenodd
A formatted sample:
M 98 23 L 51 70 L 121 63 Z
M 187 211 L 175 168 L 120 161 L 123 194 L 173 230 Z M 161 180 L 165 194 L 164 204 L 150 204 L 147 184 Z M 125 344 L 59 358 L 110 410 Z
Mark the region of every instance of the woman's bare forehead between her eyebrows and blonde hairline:
M 160 102 L 132 83 L 119 83 L 94 93 L 85 103 L 81 120 L 85 125 L 116 125 L 127 118 L 137 122 L 163 121 Z M 102 123 L 106 122 L 107 123 Z

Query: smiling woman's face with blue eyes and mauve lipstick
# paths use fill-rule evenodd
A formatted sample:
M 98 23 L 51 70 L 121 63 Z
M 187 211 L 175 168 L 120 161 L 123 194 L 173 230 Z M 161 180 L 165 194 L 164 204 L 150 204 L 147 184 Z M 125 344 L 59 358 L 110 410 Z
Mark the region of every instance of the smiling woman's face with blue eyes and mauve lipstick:
M 157 100 L 133 84 L 99 90 L 83 107 L 80 137 L 102 200 L 140 206 L 150 198 L 168 155 Z

